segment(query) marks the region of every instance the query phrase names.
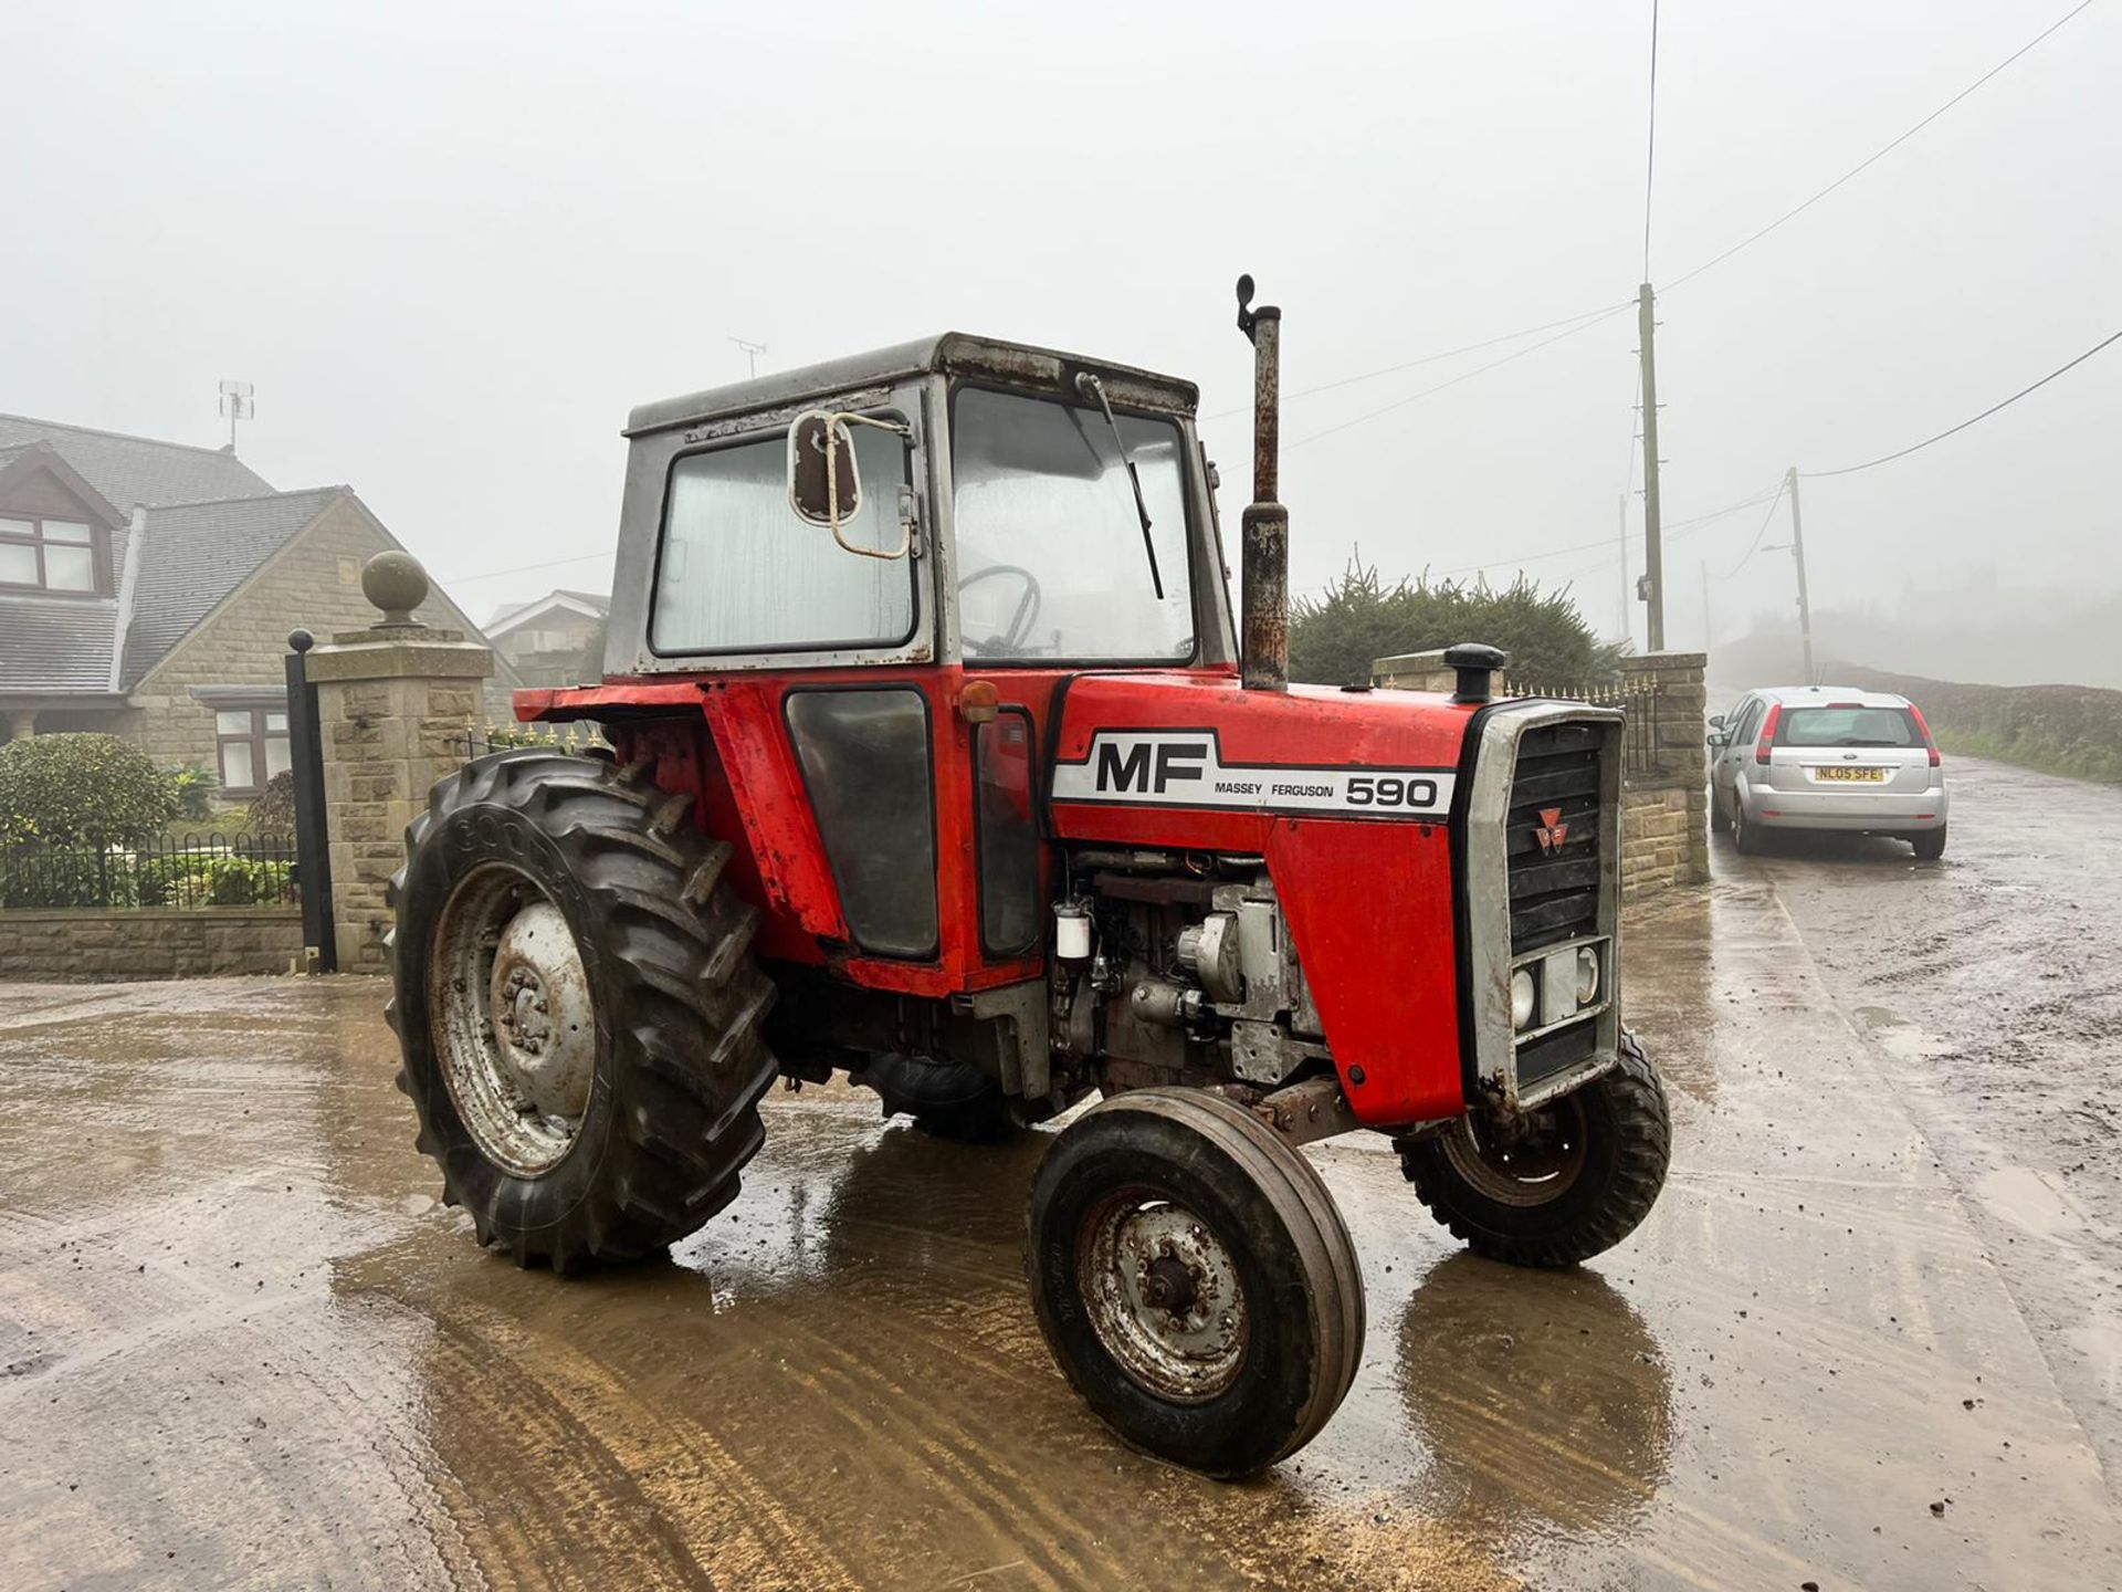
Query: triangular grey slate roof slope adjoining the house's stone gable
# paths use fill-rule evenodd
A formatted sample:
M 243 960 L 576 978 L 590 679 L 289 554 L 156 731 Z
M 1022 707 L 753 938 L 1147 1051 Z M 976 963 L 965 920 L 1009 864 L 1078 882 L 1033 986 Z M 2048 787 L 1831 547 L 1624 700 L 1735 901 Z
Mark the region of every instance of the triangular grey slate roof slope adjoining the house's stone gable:
M 318 486 L 149 509 L 121 688 L 132 690 L 253 569 L 344 492 L 344 486 Z

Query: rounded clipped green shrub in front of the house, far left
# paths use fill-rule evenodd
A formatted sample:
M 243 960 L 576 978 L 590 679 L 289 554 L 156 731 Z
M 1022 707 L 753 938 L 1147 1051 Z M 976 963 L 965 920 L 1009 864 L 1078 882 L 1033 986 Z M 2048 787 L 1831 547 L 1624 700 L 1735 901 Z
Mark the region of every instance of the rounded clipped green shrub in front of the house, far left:
M 0 747 L 0 843 L 100 849 L 157 834 L 176 779 L 115 734 L 38 734 Z

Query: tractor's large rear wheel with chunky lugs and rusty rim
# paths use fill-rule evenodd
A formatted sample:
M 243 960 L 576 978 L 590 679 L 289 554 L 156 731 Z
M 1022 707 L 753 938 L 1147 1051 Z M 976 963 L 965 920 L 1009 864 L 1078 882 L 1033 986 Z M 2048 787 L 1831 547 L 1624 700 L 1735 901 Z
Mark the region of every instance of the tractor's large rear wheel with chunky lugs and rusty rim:
M 736 1197 L 777 1066 L 755 909 L 647 768 L 503 751 L 435 785 L 390 881 L 418 1148 L 518 1265 L 628 1261 Z

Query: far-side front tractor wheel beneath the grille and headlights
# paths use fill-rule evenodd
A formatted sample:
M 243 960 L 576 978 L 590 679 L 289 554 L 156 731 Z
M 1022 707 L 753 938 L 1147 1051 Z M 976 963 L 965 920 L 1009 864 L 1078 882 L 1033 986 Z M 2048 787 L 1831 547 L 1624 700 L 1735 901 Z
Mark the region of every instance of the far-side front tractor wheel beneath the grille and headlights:
M 1672 1123 L 1642 1044 L 1592 1083 L 1528 1112 L 1515 1144 L 1483 1144 L 1473 1117 L 1401 1144 L 1401 1172 L 1451 1235 L 1511 1265 L 1577 1265 L 1611 1250 L 1666 1187 Z

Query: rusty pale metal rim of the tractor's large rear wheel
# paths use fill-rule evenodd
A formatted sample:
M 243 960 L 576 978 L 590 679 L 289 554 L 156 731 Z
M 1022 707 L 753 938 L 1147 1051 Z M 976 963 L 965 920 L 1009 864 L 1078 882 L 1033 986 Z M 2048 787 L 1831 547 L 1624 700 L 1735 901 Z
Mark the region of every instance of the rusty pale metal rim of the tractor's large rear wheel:
M 458 1121 L 497 1165 L 552 1172 L 575 1148 L 596 1078 L 596 1010 L 567 917 L 528 875 L 475 868 L 443 902 L 431 968 Z

